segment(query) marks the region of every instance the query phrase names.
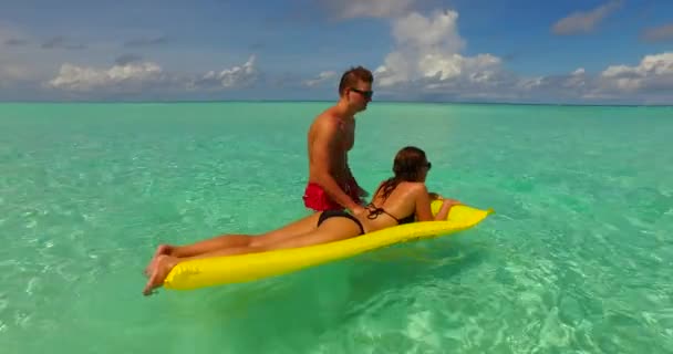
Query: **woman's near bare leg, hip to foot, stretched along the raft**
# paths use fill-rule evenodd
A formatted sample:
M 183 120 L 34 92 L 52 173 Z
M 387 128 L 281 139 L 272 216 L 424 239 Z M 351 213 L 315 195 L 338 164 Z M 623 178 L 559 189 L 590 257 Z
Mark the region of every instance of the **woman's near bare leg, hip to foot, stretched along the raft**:
M 353 220 L 339 217 L 325 220 L 317 230 L 309 231 L 307 233 L 302 233 L 293 238 L 283 239 L 278 242 L 220 249 L 214 252 L 203 253 L 182 259 L 163 254 L 157 258 L 157 261 L 152 269 L 149 280 L 145 284 L 145 289 L 143 290 L 143 294 L 148 295 L 153 289 L 161 287 L 170 270 L 180 261 L 308 247 L 313 244 L 340 241 L 348 238 L 356 237 L 359 235 L 360 227 L 355 222 L 353 222 Z

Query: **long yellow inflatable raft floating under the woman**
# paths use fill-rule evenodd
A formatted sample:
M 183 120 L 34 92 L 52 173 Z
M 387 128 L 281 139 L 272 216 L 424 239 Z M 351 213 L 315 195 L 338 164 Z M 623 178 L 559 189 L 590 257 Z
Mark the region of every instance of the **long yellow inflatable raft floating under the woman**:
M 433 201 L 433 214 L 437 214 L 441 206 L 441 201 Z M 459 205 L 451 208 L 446 221 L 400 225 L 342 241 L 297 249 L 185 261 L 168 273 L 164 288 L 190 290 L 280 275 L 395 243 L 465 230 L 479 223 L 491 212 L 493 209 L 480 210 Z

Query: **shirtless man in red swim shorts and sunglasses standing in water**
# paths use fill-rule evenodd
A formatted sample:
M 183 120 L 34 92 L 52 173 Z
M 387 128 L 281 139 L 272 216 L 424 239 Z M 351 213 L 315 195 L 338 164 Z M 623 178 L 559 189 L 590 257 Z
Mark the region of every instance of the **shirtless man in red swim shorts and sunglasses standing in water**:
M 308 134 L 309 183 L 304 206 L 314 211 L 364 211 L 363 190 L 351 173 L 348 153 L 355 140 L 355 114 L 372 101 L 372 73 L 362 67 L 344 72 L 339 83 L 339 101 L 315 117 Z

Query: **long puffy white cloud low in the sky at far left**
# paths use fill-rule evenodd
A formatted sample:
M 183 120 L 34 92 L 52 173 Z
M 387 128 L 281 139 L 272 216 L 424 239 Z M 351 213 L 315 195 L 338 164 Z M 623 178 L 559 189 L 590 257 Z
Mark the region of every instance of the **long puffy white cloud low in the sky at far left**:
M 65 63 L 59 75 L 48 86 L 68 91 L 92 91 L 96 88 L 127 88 L 154 84 L 163 80 L 162 67 L 152 62 L 127 63 L 110 69 L 77 66 Z

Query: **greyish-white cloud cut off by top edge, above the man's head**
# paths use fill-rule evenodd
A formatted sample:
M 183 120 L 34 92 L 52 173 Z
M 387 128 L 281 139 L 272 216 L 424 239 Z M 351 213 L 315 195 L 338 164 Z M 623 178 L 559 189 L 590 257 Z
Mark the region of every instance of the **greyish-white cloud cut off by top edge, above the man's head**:
M 417 0 L 322 0 L 338 19 L 393 18 L 410 11 Z

